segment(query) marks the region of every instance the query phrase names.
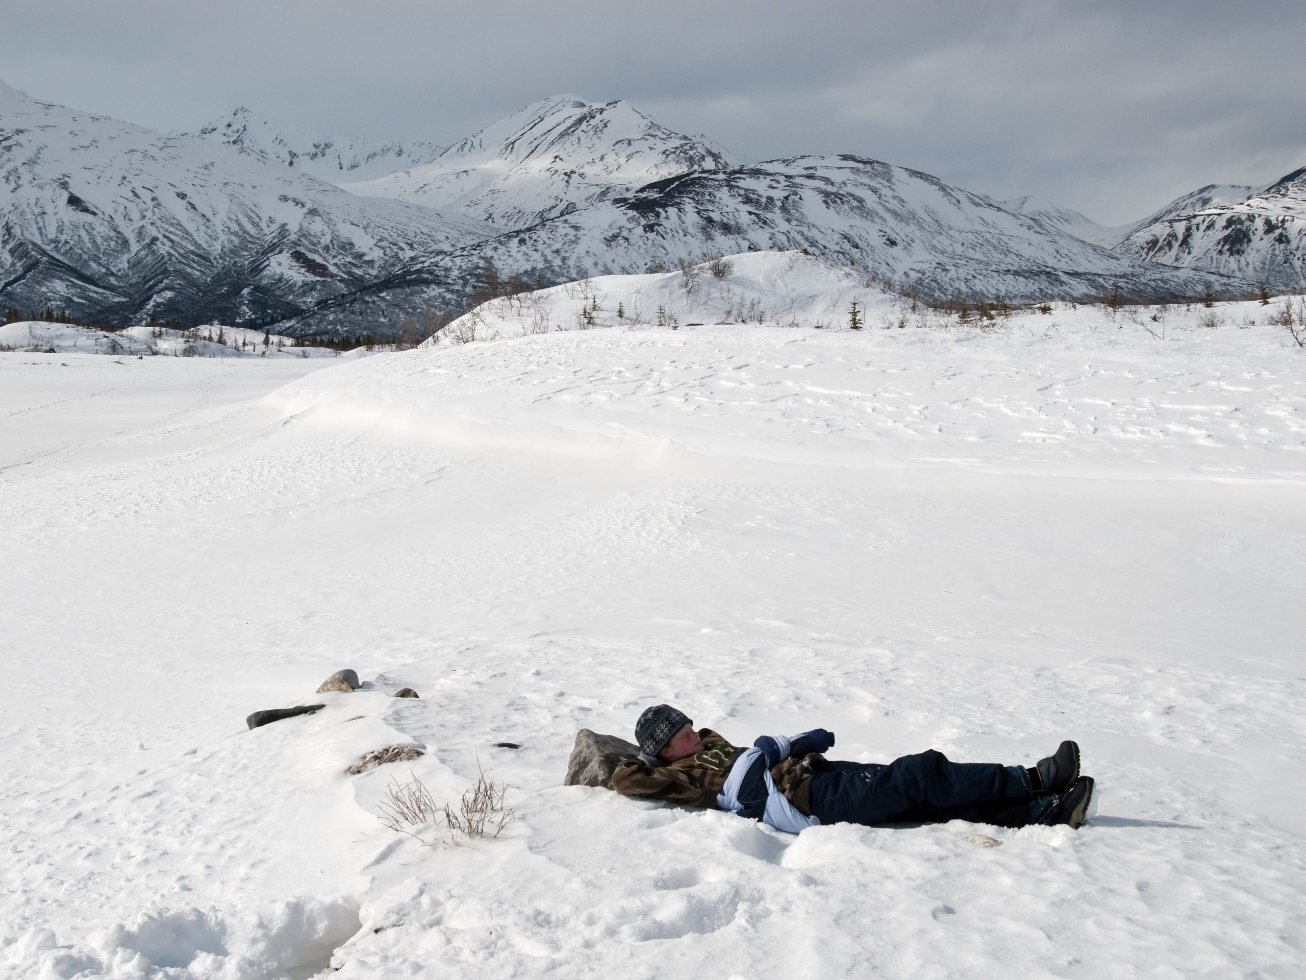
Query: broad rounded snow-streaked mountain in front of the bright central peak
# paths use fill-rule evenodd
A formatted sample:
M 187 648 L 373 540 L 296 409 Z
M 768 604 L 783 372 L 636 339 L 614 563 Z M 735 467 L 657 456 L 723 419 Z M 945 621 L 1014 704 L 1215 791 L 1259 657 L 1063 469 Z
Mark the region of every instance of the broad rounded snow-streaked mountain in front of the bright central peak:
M 418 261 L 307 314 L 290 333 L 359 332 L 407 311 L 464 307 L 486 264 L 528 281 L 674 267 L 704 252 L 806 248 L 929 298 L 1032 301 L 1247 293 L 1251 284 L 1098 248 L 917 170 L 853 155 L 703 170 Z

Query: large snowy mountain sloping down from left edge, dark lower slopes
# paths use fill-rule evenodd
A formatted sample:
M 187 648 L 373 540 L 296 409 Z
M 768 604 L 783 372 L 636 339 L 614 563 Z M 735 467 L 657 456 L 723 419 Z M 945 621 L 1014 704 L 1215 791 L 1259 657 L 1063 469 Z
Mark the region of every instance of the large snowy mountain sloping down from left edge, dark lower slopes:
M 0 174 L 0 307 L 108 323 L 269 323 L 488 234 L 3 82 Z

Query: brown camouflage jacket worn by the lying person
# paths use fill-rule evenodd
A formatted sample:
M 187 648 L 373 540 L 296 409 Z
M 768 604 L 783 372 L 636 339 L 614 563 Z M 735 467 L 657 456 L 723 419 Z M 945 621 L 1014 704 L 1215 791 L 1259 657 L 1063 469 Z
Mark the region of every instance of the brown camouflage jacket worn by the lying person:
M 700 728 L 699 738 L 703 740 L 701 751 L 667 766 L 654 768 L 635 755 L 622 759 L 613 772 L 613 788 L 623 796 L 721 809 L 717 796 L 743 749 L 730 745 L 710 728 Z M 812 775 L 824 764 L 824 755 L 810 753 L 801 758 L 785 759 L 771 770 L 776 788 L 804 817 L 811 817 Z

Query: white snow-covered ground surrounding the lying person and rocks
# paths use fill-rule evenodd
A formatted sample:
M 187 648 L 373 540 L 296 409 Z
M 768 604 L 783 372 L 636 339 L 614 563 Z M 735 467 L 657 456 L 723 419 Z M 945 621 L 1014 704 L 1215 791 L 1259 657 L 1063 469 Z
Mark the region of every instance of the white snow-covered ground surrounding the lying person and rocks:
M 0 355 L 0 973 L 1296 976 L 1306 350 L 1203 312 Z M 658 700 L 848 759 L 1074 737 L 1100 815 L 560 785 Z M 479 767 L 498 840 L 376 817 Z

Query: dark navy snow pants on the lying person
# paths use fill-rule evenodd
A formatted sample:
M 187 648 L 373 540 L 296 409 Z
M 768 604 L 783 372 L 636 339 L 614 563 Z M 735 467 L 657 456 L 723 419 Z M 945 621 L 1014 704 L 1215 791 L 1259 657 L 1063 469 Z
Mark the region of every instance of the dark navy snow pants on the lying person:
M 888 766 L 827 764 L 811 785 L 812 815 L 821 823 L 972 821 L 1024 827 L 1042 815 L 1034 813 L 1042 806 L 1030 806 L 1029 775 L 1020 766 L 948 762 L 932 749 Z

